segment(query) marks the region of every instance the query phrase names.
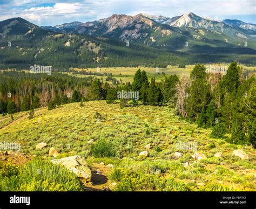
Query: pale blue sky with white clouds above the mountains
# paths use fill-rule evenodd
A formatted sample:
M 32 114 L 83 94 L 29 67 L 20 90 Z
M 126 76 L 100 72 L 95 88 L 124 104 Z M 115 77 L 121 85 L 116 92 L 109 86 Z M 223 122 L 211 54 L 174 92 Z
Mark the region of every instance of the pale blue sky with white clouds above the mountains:
M 256 0 L 0 0 L 0 21 L 22 17 L 39 26 L 85 23 L 114 13 L 174 17 L 187 12 L 215 20 L 239 19 L 256 24 Z

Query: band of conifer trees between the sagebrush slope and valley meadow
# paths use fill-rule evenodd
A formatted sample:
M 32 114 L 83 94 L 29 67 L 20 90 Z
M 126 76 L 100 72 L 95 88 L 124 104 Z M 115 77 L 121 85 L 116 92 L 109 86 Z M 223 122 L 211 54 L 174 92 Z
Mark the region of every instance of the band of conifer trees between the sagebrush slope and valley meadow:
M 0 75 L 0 113 L 14 114 L 48 106 L 51 110 L 65 103 L 106 100 L 117 102 L 119 91 L 139 92 L 139 101 L 122 98 L 120 107 L 170 105 L 184 120 L 198 127 L 211 128 L 211 136 L 228 142 L 255 144 L 256 82 L 255 75 L 246 74 L 232 62 L 226 75 L 206 73 L 204 65 L 194 66 L 190 75 L 166 76 L 156 82 L 138 69 L 133 83 L 107 83 L 93 78 L 76 78 L 61 73 L 30 74 L 17 71 Z M 9 96 L 11 93 L 11 96 Z

